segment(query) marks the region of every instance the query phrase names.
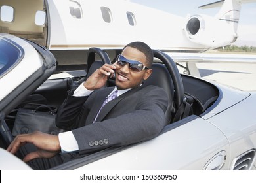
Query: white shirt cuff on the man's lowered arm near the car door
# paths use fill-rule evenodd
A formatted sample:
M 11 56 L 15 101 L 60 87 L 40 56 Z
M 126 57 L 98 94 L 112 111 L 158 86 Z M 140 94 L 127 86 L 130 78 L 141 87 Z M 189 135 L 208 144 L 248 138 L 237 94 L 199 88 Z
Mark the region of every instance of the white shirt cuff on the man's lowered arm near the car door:
M 76 152 L 79 150 L 79 146 L 72 131 L 66 131 L 58 134 L 60 141 L 60 147 L 62 152 Z

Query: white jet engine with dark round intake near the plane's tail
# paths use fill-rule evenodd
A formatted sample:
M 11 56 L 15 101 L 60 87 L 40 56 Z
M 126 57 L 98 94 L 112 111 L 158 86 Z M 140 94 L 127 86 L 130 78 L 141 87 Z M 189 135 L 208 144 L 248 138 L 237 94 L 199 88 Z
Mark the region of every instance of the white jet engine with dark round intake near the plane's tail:
M 238 22 L 198 14 L 188 18 L 184 31 L 190 41 L 217 48 L 236 41 L 238 36 L 234 24 L 238 24 Z

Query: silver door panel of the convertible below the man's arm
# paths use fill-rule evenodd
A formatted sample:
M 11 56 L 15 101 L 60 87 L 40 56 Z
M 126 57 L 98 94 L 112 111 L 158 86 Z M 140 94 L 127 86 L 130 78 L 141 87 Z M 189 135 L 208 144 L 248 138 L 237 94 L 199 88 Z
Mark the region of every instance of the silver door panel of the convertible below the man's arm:
M 202 118 L 183 123 L 81 169 L 203 169 L 218 152 L 230 152 L 226 137 L 214 125 Z

